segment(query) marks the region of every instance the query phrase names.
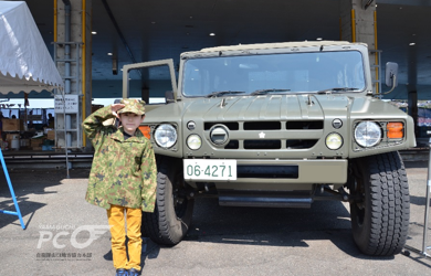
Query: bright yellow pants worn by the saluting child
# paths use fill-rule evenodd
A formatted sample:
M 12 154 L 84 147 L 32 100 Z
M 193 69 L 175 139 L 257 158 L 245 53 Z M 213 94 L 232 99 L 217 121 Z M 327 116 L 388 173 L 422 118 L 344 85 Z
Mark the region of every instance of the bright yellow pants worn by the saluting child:
M 127 237 L 128 237 L 128 261 L 126 253 L 126 236 L 124 226 L 124 211 L 126 211 Z M 143 212 L 140 209 L 132 209 L 118 205 L 111 205 L 107 210 L 108 223 L 111 226 L 111 242 L 113 251 L 114 267 L 140 270 L 140 252 L 143 240 L 140 238 L 140 224 Z

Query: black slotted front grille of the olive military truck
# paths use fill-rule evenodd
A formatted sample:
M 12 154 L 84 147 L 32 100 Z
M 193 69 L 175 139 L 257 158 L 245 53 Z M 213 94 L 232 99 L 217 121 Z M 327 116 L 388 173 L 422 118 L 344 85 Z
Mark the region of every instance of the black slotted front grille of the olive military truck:
M 228 129 L 229 141 L 225 150 L 277 150 L 277 149 L 309 149 L 316 145 L 323 130 L 323 120 L 291 120 L 291 121 L 230 121 L 204 123 L 204 130 L 211 136 L 214 126 Z M 276 131 L 280 130 L 280 131 Z M 318 135 L 316 135 L 316 131 Z M 311 135 L 313 132 L 313 135 Z M 257 134 L 262 134 L 260 137 Z M 270 137 L 264 137 L 265 135 Z M 290 138 L 291 136 L 291 138 Z M 239 138 L 241 137 L 241 138 Z M 275 138 L 274 138 L 275 137 Z M 212 138 L 212 137 L 210 137 Z

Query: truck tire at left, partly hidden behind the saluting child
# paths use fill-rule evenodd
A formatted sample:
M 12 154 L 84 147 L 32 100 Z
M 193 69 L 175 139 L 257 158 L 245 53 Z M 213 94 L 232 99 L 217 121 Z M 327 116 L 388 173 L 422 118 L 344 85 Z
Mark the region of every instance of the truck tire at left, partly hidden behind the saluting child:
M 160 245 L 181 242 L 191 223 L 195 201 L 186 193 L 182 162 L 157 158 L 157 195 L 154 213 L 143 212 L 143 236 Z

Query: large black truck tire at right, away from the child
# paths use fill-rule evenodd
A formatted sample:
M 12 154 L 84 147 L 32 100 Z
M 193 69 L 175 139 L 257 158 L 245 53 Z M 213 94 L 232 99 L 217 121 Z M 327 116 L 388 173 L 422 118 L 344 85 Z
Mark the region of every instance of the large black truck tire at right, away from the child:
M 406 244 L 410 197 L 406 169 L 398 151 L 354 159 L 348 188 L 351 230 L 359 250 L 391 256 Z

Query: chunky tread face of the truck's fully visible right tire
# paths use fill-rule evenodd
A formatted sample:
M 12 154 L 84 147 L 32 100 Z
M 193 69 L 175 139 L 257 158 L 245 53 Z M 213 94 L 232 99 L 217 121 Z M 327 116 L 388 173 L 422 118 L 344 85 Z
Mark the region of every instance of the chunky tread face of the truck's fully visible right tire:
M 355 241 L 368 255 L 398 254 L 406 244 L 410 217 L 409 188 L 402 159 L 395 151 L 368 157 L 364 163 L 369 169 L 367 211 L 370 229 L 369 235 L 361 241 L 365 243 Z

